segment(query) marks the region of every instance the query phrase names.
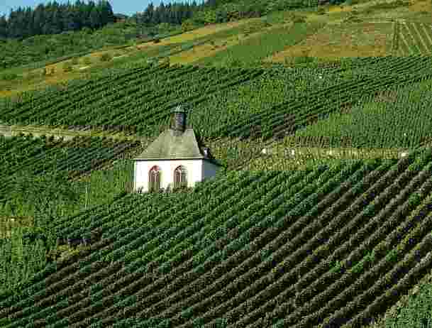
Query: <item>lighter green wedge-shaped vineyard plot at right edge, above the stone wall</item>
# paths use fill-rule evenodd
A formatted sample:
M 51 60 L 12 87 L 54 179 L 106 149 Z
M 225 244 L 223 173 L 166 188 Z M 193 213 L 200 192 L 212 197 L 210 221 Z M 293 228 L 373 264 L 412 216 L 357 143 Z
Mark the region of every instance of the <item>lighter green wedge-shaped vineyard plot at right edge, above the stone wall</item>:
M 326 120 L 297 132 L 299 138 L 326 138 L 339 147 L 349 139 L 353 147 L 407 147 L 430 143 L 432 81 L 389 87 L 379 94 L 366 94 L 349 112 L 335 112 Z

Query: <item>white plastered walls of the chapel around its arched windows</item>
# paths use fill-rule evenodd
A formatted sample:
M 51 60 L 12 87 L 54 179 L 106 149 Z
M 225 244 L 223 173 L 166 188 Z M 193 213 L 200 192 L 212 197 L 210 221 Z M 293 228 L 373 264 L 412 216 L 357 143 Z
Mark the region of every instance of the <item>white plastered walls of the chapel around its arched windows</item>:
M 209 163 L 210 165 L 213 165 Z M 143 192 L 148 191 L 148 173 L 154 165 L 160 167 L 160 187 L 166 188 L 173 186 L 174 170 L 183 165 L 187 169 L 187 186 L 194 187 L 196 181 L 203 180 L 203 160 L 135 160 L 134 184 L 133 189 L 136 191 L 143 187 Z M 206 174 L 211 175 L 213 170 L 206 168 Z M 205 176 L 205 175 L 204 175 Z

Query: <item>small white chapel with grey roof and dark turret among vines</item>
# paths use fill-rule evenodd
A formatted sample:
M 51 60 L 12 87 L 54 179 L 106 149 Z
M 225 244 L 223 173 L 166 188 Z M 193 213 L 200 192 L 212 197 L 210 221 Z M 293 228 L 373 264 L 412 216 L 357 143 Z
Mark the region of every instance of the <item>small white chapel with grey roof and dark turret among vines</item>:
M 222 166 L 209 148 L 198 144 L 194 130 L 186 126 L 186 111 L 180 106 L 172 112 L 170 129 L 133 160 L 135 192 L 194 187 L 195 182 L 214 177 Z

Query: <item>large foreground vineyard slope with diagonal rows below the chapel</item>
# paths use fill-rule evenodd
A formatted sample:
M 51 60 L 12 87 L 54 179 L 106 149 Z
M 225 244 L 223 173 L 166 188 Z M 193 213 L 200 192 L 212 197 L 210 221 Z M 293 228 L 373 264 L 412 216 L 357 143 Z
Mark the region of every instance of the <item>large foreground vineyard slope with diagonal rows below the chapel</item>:
M 58 219 L 59 238 L 102 238 L 0 295 L 0 325 L 358 327 L 432 268 L 431 167 L 421 148 L 231 172 Z

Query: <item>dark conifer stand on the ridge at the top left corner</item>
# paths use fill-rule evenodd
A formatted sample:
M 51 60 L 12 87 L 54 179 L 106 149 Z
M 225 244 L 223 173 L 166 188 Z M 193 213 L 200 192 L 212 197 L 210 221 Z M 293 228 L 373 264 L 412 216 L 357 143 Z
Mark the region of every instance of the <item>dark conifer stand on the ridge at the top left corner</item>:
M 18 7 L 11 10 L 9 18 L 0 17 L 1 38 L 28 38 L 33 35 L 59 34 L 64 31 L 79 31 L 84 27 L 97 29 L 108 23 L 115 23 L 109 1 L 99 0 L 96 4 L 58 4 L 56 1 L 39 4 L 35 9 Z

